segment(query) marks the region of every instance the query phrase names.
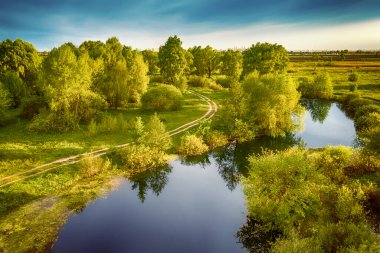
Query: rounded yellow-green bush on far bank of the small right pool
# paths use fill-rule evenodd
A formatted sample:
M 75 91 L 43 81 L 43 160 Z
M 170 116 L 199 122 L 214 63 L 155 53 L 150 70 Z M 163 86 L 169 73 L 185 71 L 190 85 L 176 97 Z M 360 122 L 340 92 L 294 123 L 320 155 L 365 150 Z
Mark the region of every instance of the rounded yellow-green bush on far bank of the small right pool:
M 333 86 L 329 74 L 318 74 L 313 82 L 308 78 L 299 79 L 299 91 L 303 97 L 331 99 L 333 97 Z

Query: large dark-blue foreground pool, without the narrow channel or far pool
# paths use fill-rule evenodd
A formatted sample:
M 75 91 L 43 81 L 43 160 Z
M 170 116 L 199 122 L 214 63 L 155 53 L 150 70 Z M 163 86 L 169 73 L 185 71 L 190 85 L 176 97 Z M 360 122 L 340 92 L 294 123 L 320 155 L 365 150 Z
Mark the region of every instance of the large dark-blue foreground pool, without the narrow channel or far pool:
M 222 179 L 213 156 L 170 166 L 126 180 L 72 216 L 54 252 L 245 252 L 236 238 L 246 217 L 240 185 Z

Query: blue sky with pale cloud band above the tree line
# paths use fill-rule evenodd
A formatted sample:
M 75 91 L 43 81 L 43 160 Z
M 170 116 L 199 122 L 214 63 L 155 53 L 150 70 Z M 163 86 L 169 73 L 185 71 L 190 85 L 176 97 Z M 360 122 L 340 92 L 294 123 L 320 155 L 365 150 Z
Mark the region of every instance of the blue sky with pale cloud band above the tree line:
M 40 50 L 116 36 L 157 49 L 178 35 L 185 48 L 380 50 L 380 0 L 1 0 L 0 40 Z

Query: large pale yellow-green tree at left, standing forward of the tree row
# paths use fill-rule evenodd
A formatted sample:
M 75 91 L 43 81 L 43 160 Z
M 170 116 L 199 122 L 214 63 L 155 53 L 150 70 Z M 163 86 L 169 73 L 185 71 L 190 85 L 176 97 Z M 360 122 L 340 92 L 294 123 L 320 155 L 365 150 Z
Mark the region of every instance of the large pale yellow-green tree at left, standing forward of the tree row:
M 101 96 L 91 90 L 93 69 L 87 52 L 75 54 L 71 45 L 53 49 L 45 58 L 39 85 L 49 103 L 49 115 L 36 119 L 32 129 L 69 130 L 80 120 L 90 120 L 104 107 Z

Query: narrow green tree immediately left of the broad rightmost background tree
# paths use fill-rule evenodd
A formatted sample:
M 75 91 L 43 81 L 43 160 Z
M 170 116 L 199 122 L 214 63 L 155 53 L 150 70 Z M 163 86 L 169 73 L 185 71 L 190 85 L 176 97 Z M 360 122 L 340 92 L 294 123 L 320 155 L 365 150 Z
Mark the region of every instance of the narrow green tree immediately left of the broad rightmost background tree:
M 243 70 L 242 61 L 243 55 L 240 51 L 228 49 L 222 56 L 221 73 L 232 80 L 238 80 Z

